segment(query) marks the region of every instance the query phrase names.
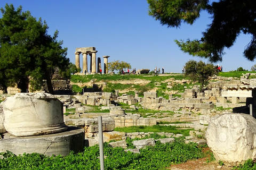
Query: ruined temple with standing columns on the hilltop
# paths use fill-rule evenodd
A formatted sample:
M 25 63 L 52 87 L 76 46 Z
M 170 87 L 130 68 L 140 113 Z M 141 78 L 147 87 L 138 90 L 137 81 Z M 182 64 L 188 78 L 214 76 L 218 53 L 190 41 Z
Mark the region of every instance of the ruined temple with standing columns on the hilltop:
M 76 48 L 75 52 L 75 65 L 77 68 L 80 68 L 80 58 L 79 55 L 82 53 L 83 54 L 83 69 L 82 73 L 91 73 L 91 74 L 96 74 L 96 73 L 101 73 L 101 59 L 98 57 L 98 62 L 96 61 L 96 53 L 98 51 L 95 49 L 95 47 L 82 47 L 82 48 Z M 89 54 L 90 56 L 90 68 L 88 70 L 88 62 L 87 62 L 87 55 Z M 107 64 L 108 64 L 108 57 L 109 56 L 103 56 L 104 58 L 104 70 L 103 73 L 107 74 Z

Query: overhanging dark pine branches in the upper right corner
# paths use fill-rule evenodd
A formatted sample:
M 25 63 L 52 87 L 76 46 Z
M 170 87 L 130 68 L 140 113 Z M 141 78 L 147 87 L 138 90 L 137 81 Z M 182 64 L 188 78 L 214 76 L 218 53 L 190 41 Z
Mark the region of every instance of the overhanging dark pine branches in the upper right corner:
M 211 14 L 212 23 L 200 39 L 175 42 L 186 53 L 208 58 L 211 62 L 222 61 L 224 48 L 230 48 L 240 33 L 252 35 L 245 47 L 244 56 L 254 61 L 256 57 L 256 3 L 253 0 L 147 0 L 149 15 L 167 27 L 180 27 L 182 21 L 193 24 L 200 12 Z

